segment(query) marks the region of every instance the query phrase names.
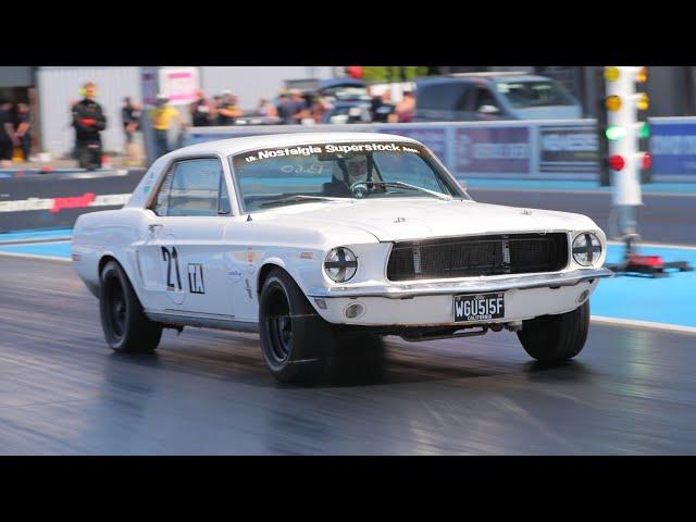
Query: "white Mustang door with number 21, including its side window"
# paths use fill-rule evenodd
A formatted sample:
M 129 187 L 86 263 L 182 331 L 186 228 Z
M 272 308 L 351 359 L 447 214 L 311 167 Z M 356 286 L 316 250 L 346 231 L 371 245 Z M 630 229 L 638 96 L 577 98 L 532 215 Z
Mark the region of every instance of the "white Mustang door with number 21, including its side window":
M 220 158 L 173 162 L 149 210 L 138 251 L 147 307 L 227 318 L 222 239 L 231 208 Z

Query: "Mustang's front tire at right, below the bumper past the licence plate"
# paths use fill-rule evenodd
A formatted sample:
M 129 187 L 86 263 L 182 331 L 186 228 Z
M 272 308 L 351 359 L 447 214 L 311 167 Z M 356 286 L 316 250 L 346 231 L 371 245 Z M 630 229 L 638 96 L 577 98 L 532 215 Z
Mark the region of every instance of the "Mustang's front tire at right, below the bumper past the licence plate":
M 526 352 L 542 363 L 566 361 L 585 346 L 589 301 L 559 315 L 543 315 L 522 323 L 518 337 Z

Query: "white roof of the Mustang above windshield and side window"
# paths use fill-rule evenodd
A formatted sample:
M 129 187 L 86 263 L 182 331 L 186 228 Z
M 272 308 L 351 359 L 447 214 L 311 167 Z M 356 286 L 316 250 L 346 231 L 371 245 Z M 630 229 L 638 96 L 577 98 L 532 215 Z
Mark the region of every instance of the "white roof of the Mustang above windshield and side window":
M 262 149 L 266 147 L 295 147 L 318 142 L 336 144 L 343 141 L 405 141 L 418 144 L 417 140 L 405 136 L 384 133 L 286 133 L 204 141 L 202 144 L 189 145 L 188 147 L 176 149 L 166 156 L 170 158 L 210 153 L 229 156 L 245 150 Z

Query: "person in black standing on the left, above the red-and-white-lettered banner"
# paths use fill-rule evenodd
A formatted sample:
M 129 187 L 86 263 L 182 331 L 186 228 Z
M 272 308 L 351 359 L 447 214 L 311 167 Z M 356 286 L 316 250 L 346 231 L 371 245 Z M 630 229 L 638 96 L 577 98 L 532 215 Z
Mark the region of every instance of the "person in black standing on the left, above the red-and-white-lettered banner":
M 73 126 L 79 167 L 101 167 L 101 135 L 107 128 L 107 117 L 101 105 L 95 101 L 97 86 L 88 82 L 83 87 L 84 98 L 73 105 Z

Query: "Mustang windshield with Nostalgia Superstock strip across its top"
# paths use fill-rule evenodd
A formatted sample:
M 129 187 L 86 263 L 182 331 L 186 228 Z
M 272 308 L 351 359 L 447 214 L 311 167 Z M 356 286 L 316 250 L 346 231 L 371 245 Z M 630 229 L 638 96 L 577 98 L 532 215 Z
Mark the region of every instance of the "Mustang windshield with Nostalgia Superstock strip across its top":
M 469 199 L 424 147 L 407 142 L 313 144 L 231 158 L 246 212 L 335 199 Z

